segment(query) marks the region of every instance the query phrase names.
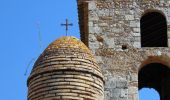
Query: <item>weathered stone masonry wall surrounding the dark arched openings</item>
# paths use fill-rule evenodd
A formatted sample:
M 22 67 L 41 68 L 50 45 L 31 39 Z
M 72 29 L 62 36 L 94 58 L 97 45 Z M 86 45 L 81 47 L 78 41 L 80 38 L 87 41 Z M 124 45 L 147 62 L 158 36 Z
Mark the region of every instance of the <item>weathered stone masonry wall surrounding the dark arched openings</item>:
M 141 48 L 140 18 L 145 12 L 152 10 L 163 13 L 167 19 L 170 46 L 170 1 L 86 2 L 88 22 L 81 24 L 88 24 L 88 46 L 105 77 L 105 100 L 138 100 L 139 69 L 152 62 L 170 67 L 170 48 Z M 127 46 L 127 49 L 123 50 L 123 45 Z

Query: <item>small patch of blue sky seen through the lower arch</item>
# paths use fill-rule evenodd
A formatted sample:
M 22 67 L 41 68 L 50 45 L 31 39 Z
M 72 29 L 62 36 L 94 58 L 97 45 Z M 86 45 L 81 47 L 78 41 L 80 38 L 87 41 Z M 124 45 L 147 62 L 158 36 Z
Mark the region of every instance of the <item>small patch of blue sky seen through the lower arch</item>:
M 160 100 L 160 96 L 153 88 L 142 88 L 139 91 L 139 100 Z

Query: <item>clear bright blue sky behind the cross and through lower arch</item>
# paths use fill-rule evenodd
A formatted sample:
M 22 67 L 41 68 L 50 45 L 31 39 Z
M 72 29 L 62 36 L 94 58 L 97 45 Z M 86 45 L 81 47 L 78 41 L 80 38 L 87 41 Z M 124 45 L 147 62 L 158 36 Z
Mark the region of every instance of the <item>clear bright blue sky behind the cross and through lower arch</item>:
M 76 0 L 0 0 L 0 99 L 26 100 L 26 81 L 33 58 L 58 37 L 65 35 L 60 24 L 68 18 L 74 26 L 69 35 L 79 38 Z M 39 47 L 39 23 L 42 48 Z M 153 92 L 153 90 L 151 90 Z M 142 90 L 140 100 L 158 100 L 156 93 Z M 150 98 L 149 98 L 150 97 Z

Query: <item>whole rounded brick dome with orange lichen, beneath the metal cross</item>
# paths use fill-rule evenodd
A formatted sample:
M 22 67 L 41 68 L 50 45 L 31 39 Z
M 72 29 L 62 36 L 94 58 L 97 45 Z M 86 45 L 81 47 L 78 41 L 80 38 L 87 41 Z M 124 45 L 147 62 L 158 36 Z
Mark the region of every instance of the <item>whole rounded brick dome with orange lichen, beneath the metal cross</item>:
M 75 37 L 50 44 L 28 78 L 28 100 L 103 100 L 103 76 L 90 50 Z

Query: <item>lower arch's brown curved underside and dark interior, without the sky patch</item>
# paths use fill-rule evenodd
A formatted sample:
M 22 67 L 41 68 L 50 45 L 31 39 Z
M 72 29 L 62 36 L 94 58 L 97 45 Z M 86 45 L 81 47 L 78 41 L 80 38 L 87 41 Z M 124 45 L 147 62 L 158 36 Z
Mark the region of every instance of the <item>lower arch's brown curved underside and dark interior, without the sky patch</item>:
M 138 71 L 138 89 L 153 88 L 160 100 L 170 100 L 170 59 L 152 56 L 142 62 Z

